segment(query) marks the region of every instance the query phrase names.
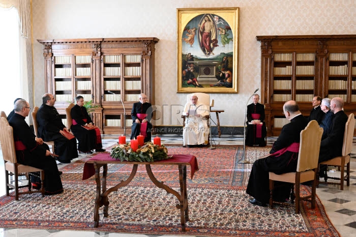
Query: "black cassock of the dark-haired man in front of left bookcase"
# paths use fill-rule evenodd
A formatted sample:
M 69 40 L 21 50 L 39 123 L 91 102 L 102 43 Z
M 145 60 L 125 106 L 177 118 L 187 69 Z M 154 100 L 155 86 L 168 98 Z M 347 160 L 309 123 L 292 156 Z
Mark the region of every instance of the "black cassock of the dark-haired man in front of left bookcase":
M 77 123 L 71 126 L 71 131 L 74 136 L 78 139 L 78 151 L 80 152 L 90 152 L 94 149 L 102 148 L 103 145 L 97 142 L 97 134 L 95 129 L 86 130 L 82 125 L 93 123 L 92 118 L 89 116 L 86 108 L 84 106 L 74 105 L 71 109 L 72 119 Z M 83 121 L 86 119 L 86 122 Z

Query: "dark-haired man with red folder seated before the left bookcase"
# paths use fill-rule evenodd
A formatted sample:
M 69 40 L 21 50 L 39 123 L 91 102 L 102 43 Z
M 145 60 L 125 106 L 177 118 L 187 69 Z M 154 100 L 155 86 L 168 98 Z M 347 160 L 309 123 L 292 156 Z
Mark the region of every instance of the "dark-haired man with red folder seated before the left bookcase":
M 101 134 L 98 127 L 94 126 L 91 116 L 84 105 L 84 98 L 77 96 L 76 105 L 71 109 L 72 126 L 71 131 L 78 139 L 78 151 L 85 154 L 96 152 L 105 152 L 102 148 Z

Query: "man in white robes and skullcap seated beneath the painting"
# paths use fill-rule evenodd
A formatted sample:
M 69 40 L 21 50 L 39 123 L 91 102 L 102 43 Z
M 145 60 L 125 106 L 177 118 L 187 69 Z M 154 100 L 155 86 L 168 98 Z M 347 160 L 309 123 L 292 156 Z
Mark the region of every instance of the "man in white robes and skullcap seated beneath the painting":
M 209 114 L 209 105 L 199 103 L 198 97 L 193 94 L 183 110 L 183 115 L 187 116 L 183 129 L 183 146 L 205 146 L 204 142 L 209 134 L 205 116 Z

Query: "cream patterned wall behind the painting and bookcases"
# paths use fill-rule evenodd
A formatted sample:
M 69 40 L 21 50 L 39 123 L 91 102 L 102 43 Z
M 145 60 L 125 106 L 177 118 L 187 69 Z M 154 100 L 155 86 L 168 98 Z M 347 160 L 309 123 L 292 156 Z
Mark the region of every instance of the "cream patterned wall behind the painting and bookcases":
M 155 101 L 186 101 L 176 93 L 176 9 L 240 8 L 238 94 L 212 94 L 221 126 L 243 126 L 247 99 L 260 88 L 260 35 L 356 33 L 355 0 L 33 0 L 35 105 L 44 91 L 43 49 L 37 39 L 157 37 Z M 260 88 L 261 90 L 261 88 Z M 172 111 L 175 113 L 175 110 Z M 213 115 L 213 119 L 214 119 Z M 170 111 L 161 125 L 174 125 Z

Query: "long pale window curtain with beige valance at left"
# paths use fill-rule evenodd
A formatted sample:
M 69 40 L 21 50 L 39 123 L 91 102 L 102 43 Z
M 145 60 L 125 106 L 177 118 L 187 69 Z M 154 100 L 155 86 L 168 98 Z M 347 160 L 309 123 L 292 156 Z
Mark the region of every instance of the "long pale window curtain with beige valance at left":
M 19 62 L 20 62 L 20 85 L 21 98 L 28 101 L 31 107 L 33 99 L 33 69 L 32 69 L 32 36 L 31 36 L 31 0 L 0 0 L 0 8 L 16 8 L 19 15 L 20 39 L 19 39 Z M 16 98 L 9 98 L 11 101 Z M 26 118 L 28 122 L 28 117 Z M 31 119 L 32 121 L 32 119 Z

